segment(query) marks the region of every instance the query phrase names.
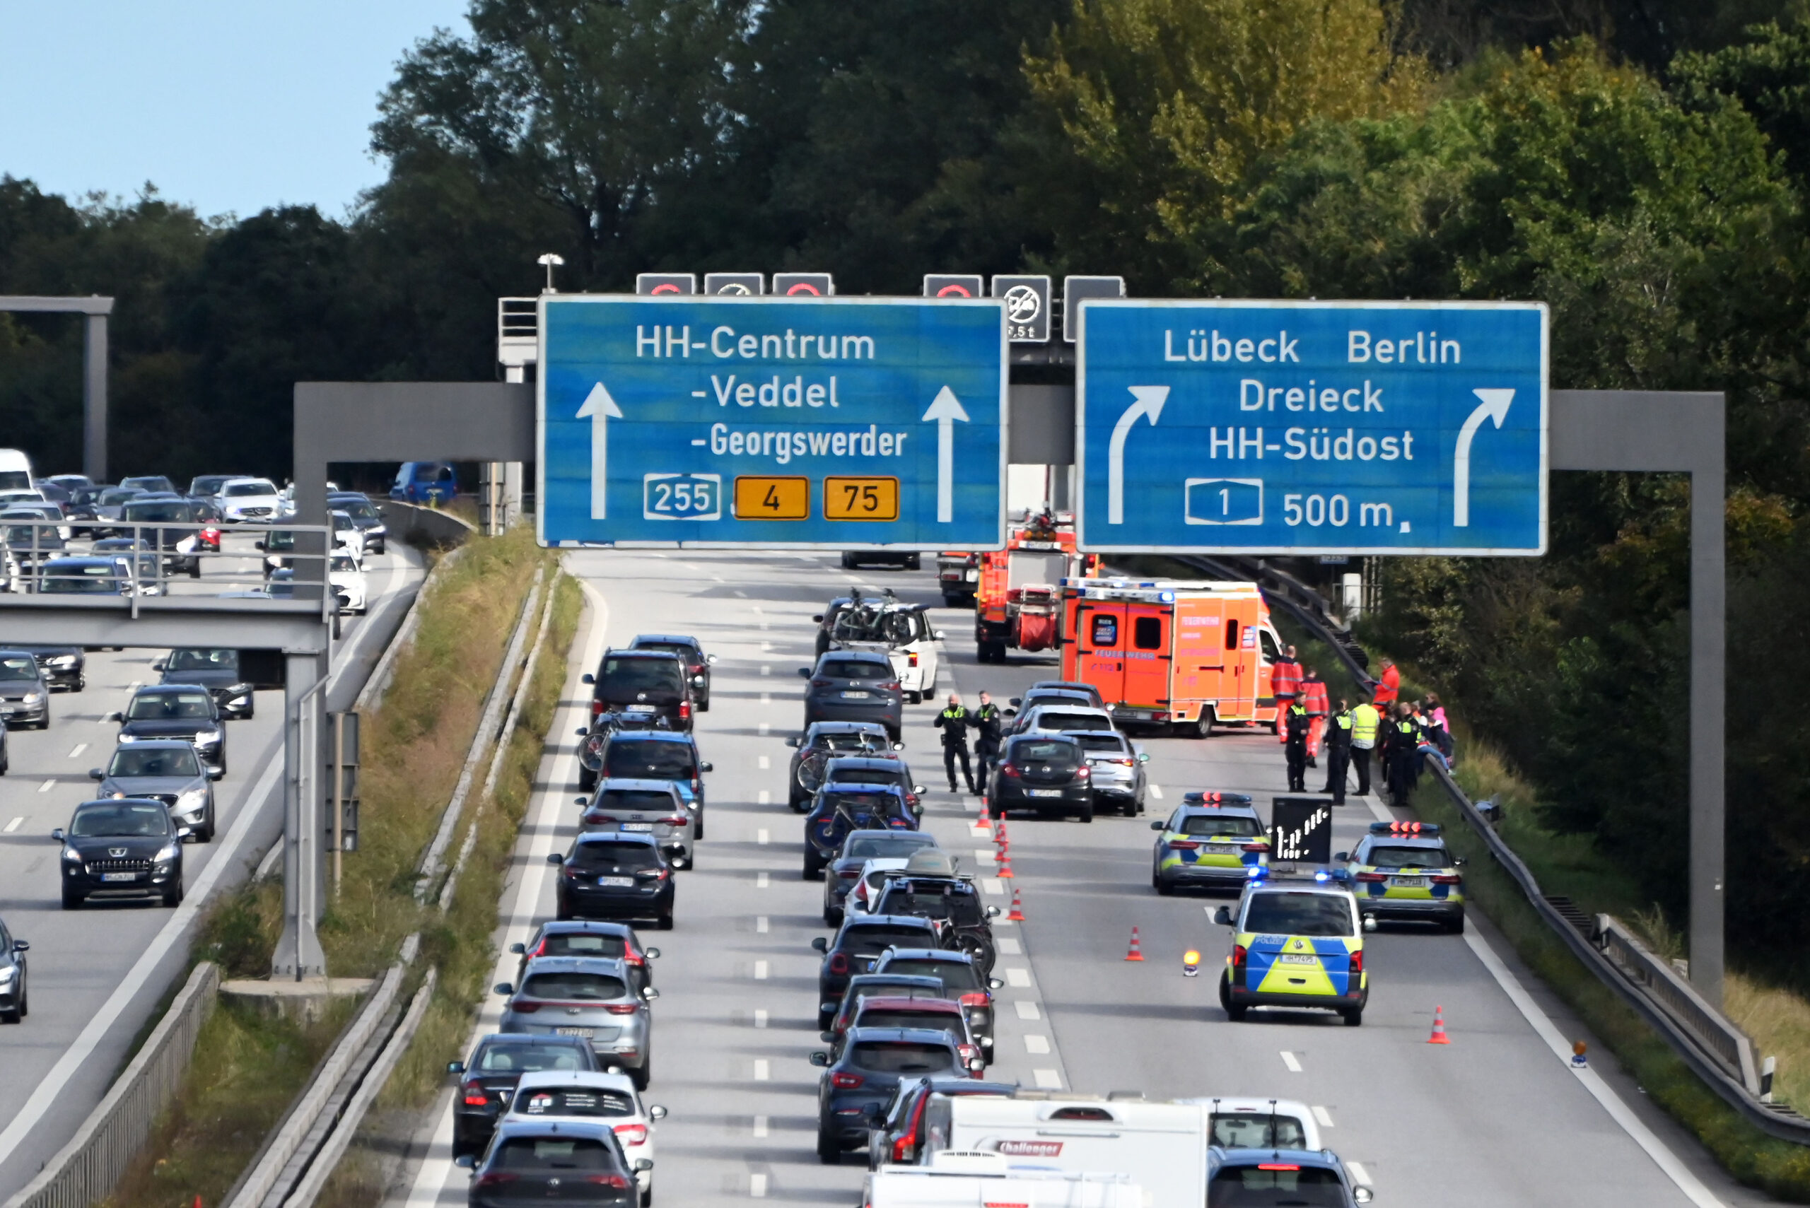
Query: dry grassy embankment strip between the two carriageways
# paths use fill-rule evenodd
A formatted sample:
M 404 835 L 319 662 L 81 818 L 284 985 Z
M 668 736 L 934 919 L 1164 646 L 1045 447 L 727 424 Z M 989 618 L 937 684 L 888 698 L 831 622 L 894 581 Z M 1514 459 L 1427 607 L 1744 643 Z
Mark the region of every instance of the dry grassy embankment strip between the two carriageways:
M 570 580 L 557 580 L 556 628 L 539 662 L 529 702 L 534 707 L 525 707 L 510 736 L 496 790 L 500 808 L 483 814 L 478 848 L 445 919 L 414 902 L 414 866 L 452 796 L 539 564 L 550 573 L 556 568 L 529 530 L 474 541 L 418 604 L 424 611 L 414 642 L 398 656 L 382 705 L 364 720 L 360 850 L 344 857 L 344 881 L 322 919 L 320 942 L 335 977 L 380 977 L 395 962 L 402 939 L 422 931 L 424 958 L 414 977 L 436 964 L 440 987 L 416 1049 L 431 1036 L 449 1034 L 456 1018 L 469 1018 L 492 960 L 489 937 L 503 863 L 577 622 L 577 588 Z M 467 816 L 478 807 L 476 796 Z M 219 962 L 226 977 L 266 977 L 281 913 L 279 881 L 248 884 L 214 906 L 194 957 Z M 413 982 L 405 993 L 413 993 Z M 223 1002 L 201 1031 L 174 1107 L 109 1204 L 167 1208 L 190 1204 L 195 1195 L 203 1204 L 219 1204 L 306 1087 L 351 1011 L 353 1004 L 342 1004 L 329 1018 L 304 1027 Z M 416 1080 L 425 1078 L 425 1067 L 411 1054 L 398 1069 L 398 1081 L 411 1069 Z

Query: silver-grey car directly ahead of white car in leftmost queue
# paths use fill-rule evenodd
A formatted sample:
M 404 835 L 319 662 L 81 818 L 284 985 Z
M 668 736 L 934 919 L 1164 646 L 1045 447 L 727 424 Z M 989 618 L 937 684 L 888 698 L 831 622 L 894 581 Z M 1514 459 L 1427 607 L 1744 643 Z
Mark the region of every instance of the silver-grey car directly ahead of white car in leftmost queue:
M 532 957 L 521 986 L 498 982 L 505 995 L 500 1033 L 581 1036 L 597 1062 L 621 1065 L 641 1090 L 653 1072 L 652 986 L 635 991 L 628 966 L 606 957 Z

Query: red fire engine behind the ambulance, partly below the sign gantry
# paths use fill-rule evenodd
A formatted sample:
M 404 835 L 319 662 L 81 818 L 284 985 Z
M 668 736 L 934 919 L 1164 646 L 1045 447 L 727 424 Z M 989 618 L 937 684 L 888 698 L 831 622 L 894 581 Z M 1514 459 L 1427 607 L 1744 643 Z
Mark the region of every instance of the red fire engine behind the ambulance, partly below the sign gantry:
M 1097 553 L 1075 552 L 1072 512 L 1035 512 L 1006 528 L 1006 548 L 979 555 L 974 644 L 981 662 L 1006 649 L 1046 651 L 1061 642 L 1064 579 L 1095 575 Z

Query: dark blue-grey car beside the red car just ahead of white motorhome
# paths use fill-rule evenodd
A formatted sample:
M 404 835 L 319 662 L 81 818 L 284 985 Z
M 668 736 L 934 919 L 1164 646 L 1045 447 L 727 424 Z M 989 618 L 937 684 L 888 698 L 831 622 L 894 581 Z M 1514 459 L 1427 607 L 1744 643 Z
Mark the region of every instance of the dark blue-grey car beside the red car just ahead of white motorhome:
M 816 1157 L 824 1165 L 867 1145 L 901 1080 L 977 1076 L 985 1069 L 979 1058 L 965 1062 L 948 1033 L 929 1027 L 854 1027 L 834 1063 L 827 1052 L 813 1052 L 811 1065 L 824 1067 L 816 1094 Z

